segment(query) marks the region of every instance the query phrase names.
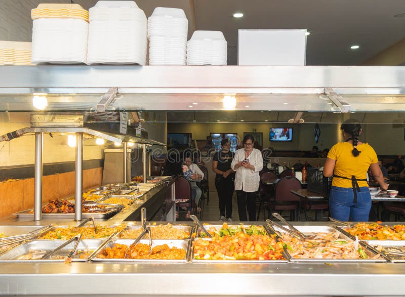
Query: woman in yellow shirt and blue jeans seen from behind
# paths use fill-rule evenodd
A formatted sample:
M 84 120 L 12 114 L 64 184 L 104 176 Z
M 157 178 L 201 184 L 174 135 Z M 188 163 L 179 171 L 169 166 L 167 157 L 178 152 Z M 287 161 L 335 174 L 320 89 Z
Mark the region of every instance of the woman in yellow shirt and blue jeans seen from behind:
M 388 184 L 384 182 L 376 152 L 358 139 L 361 125 L 348 119 L 340 129 L 345 142 L 331 148 L 323 167 L 324 176 L 333 176 L 329 194 L 330 215 L 340 221 L 367 222 L 371 208 L 367 183 L 369 167 L 382 189 L 388 189 Z

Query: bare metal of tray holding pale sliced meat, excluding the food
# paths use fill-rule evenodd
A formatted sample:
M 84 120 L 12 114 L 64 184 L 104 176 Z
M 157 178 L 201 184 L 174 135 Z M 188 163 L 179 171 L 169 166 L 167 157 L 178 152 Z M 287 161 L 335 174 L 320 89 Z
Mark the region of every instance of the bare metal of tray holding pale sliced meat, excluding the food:
M 284 226 L 288 228 L 288 226 Z M 296 229 L 301 231 L 305 235 L 314 235 L 316 233 L 330 233 L 337 231 L 340 233 L 339 239 L 346 240 L 346 241 L 353 241 L 351 237 L 347 236 L 346 234 L 340 232 L 340 229 L 335 229 L 332 226 L 294 226 Z M 277 228 L 277 226 L 273 226 L 272 228 L 281 236 L 282 234 L 286 233 L 285 231 Z M 371 249 L 369 249 L 365 244 L 359 242 L 361 245 L 361 248 L 367 253 L 368 257 L 373 257 L 377 253 Z M 287 250 L 287 253 L 289 253 L 289 250 Z M 291 262 L 321 262 L 321 263 L 335 263 L 335 262 L 344 262 L 344 263 L 349 263 L 349 262 L 387 262 L 386 259 L 382 258 L 381 259 L 298 259 L 294 258 L 290 253 L 290 261 Z

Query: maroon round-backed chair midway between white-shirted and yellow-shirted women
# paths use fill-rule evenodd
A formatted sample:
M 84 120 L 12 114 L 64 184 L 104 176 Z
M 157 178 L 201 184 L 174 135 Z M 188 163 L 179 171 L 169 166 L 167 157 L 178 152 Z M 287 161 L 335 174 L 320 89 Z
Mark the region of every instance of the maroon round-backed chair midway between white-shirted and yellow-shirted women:
M 298 206 L 300 197 L 291 193 L 291 190 L 301 189 L 301 182 L 295 177 L 285 177 L 280 179 L 275 185 L 274 201 L 269 201 L 267 207 L 269 210 L 269 218 L 271 212 L 277 210 L 279 213 L 282 210 L 290 211 L 290 221 L 300 219 Z

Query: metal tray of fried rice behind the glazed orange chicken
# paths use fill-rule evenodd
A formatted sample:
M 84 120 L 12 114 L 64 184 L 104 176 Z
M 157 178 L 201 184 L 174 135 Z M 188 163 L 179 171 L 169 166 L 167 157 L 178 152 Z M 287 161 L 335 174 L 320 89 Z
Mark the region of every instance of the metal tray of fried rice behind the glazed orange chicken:
M 193 227 L 184 225 L 148 225 L 152 233 L 152 239 L 191 239 Z M 142 232 L 142 226 L 128 226 L 124 229 L 119 238 L 136 239 Z M 144 236 L 145 239 L 149 238 L 149 234 Z

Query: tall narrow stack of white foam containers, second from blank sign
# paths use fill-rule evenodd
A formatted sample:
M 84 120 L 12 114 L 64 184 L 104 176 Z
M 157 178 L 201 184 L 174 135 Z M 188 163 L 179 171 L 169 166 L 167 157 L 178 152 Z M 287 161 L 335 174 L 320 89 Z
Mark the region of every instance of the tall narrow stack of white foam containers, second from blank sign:
M 182 9 L 155 8 L 148 18 L 149 65 L 186 65 L 187 25 Z

